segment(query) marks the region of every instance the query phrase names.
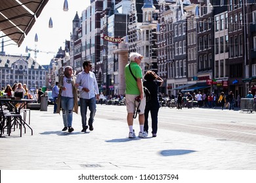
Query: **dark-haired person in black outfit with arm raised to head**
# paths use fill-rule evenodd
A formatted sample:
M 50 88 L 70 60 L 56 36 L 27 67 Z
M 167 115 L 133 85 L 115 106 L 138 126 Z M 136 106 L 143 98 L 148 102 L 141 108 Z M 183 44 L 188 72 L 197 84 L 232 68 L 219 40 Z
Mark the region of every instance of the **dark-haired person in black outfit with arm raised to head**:
M 144 75 L 143 86 L 148 88 L 150 92 L 151 99 L 146 101 L 146 107 L 144 111 L 145 122 L 144 131 L 148 133 L 148 113 L 151 114 L 152 120 L 152 137 L 156 137 L 158 131 L 158 110 L 160 108 L 160 103 L 158 99 L 158 87 L 163 84 L 163 79 L 156 75 L 154 71 L 147 71 Z

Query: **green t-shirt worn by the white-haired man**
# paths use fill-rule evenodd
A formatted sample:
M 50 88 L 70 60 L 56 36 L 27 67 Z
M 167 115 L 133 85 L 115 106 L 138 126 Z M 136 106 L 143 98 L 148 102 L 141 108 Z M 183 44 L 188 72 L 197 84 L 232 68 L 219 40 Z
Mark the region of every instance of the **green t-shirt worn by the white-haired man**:
M 137 81 L 135 78 L 133 78 L 133 75 L 135 75 L 136 78 L 142 78 L 142 71 L 140 66 L 135 63 L 131 62 L 131 71 L 133 72 L 133 75 L 131 75 L 129 64 L 125 65 L 125 84 L 126 84 L 126 94 L 130 95 L 140 95 L 139 88 L 137 86 Z

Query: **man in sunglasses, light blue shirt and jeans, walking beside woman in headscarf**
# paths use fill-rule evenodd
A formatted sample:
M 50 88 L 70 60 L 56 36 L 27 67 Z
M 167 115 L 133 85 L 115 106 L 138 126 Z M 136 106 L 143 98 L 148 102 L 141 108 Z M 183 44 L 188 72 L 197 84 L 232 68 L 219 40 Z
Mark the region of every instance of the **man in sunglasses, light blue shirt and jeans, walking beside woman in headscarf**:
M 93 65 L 91 61 L 83 62 L 83 71 L 77 75 L 75 86 L 80 91 L 80 112 L 83 129 L 81 132 L 86 132 L 88 125 L 89 130 L 93 131 L 93 122 L 96 113 L 96 100 L 99 100 L 98 84 L 95 73 L 91 70 Z M 90 117 L 87 125 L 87 108 L 89 108 Z

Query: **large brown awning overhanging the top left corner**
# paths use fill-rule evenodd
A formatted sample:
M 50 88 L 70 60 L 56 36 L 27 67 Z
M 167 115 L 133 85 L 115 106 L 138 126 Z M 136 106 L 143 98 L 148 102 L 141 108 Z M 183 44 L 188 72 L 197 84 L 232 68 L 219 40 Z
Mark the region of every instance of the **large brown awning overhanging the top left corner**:
M 1 0 L 0 3 L 0 31 L 5 33 L 1 37 L 9 37 L 18 46 L 22 44 L 49 0 L 19 1 L 21 5 L 15 0 Z

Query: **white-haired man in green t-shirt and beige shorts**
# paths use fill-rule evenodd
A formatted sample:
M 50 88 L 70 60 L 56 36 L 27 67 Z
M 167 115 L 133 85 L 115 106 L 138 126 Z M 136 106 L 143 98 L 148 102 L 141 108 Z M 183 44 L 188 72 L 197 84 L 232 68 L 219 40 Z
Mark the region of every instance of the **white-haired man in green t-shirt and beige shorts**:
M 139 137 L 147 137 L 147 133 L 144 132 L 144 109 L 146 106 L 146 98 L 143 93 L 142 86 L 142 70 L 140 68 L 141 56 L 137 52 L 131 52 L 129 59 L 130 63 L 125 65 L 125 101 L 127 108 L 127 124 L 129 126 L 129 138 L 136 138 L 135 131 L 133 129 L 133 113 L 135 112 L 136 105 L 139 105 L 139 124 L 140 131 Z M 134 77 L 133 77 L 134 76 Z M 137 101 L 135 99 L 137 98 Z

